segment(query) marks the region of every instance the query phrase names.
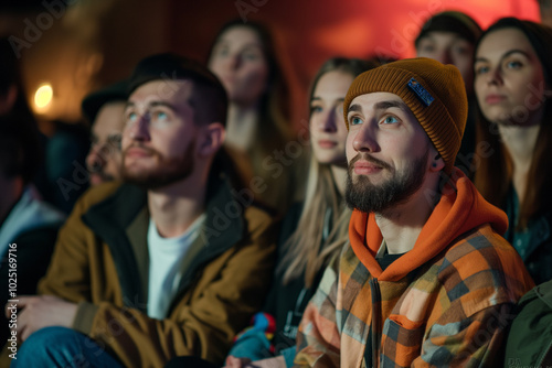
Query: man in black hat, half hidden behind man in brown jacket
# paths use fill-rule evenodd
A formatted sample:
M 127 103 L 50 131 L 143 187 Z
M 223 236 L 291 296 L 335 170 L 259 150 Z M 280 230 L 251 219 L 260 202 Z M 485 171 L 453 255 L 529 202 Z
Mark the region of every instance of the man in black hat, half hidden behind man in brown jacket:
M 91 185 L 120 178 L 120 138 L 127 102 L 125 80 L 89 94 L 83 100 L 83 113 L 92 123 L 91 151 L 86 156 Z

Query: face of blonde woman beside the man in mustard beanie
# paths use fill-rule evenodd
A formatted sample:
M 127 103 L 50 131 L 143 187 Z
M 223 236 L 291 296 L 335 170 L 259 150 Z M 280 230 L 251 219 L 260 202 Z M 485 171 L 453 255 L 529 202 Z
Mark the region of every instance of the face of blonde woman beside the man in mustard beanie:
M 347 166 L 343 99 L 354 77 L 346 72 L 323 74 L 310 100 L 310 142 L 320 163 Z

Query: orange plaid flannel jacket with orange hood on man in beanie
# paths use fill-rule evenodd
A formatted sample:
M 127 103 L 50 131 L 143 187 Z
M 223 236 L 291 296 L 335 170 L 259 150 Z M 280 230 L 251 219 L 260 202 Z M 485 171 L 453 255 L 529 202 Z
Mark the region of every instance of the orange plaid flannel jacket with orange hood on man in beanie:
M 497 215 L 496 208 L 488 207 L 470 182 L 457 185 L 458 195 L 444 195 L 445 203 L 442 198 L 428 223 L 444 231 L 449 228 L 453 235 L 455 229 L 465 230 L 463 220 L 484 223 L 452 241 L 427 236 L 435 230 L 424 232 L 424 227 L 421 237 L 440 241 L 440 248 L 435 252 L 438 243 L 431 251 L 414 246 L 420 258 L 429 259 L 405 274 L 386 272 L 393 264 L 378 274 L 373 246 L 372 251 L 347 246 L 326 270 L 305 311 L 297 366 L 493 367 L 500 362 L 503 329 L 513 318 L 516 302 L 533 282 L 516 250 L 485 223 L 485 216 L 476 218 L 469 210 Z M 458 201 L 466 203 L 458 208 Z M 363 236 L 369 245 L 378 240 L 370 241 L 371 234 Z M 416 256 L 414 249 L 411 256 Z M 403 260 L 403 267 L 404 261 L 415 263 L 416 258 Z M 367 347 L 370 332 L 372 346 Z M 364 361 L 367 348 L 372 349 L 373 361 Z

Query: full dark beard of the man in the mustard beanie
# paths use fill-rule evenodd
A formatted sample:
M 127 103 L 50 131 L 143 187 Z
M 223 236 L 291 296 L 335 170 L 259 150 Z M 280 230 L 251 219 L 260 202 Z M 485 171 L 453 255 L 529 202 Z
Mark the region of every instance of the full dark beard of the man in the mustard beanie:
M 412 166 L 397 174 L 393 171 L 393 176 L 386 182 L 374 185 L 365 175 L 359 175 L 355 183 L 352 181 L 352 171 L 354 163 L 360 160 L 372 162 L 383 170 L 393 170 L 388 163 L 372 158 L 365 153 L 359 153 L 347 171 L 346 202 L 349 208 L 359 209 L 363 213 L 382 213 L 406 202 L 416 193 L 424 183 L 427 158 L 429 150 L 418 160 L 414 161 Z

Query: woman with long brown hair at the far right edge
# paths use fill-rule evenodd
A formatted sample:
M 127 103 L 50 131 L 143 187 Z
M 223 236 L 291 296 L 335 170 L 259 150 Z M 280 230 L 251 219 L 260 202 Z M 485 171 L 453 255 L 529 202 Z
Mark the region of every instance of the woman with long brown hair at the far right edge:
M 507 213 L 505 237 L 537 284 L 552 279 L 551 87 L 552 29 L 506 18 L 482 34 L 475 57 L 475 184 Z

